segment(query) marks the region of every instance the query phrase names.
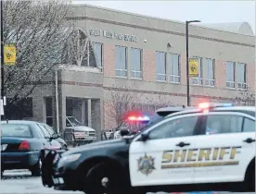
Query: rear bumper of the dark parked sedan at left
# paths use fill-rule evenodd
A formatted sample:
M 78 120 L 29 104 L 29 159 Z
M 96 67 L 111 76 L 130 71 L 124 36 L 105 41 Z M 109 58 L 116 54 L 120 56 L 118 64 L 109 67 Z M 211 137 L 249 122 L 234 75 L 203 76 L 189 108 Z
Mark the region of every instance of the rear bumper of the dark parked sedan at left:
M 4 170 L 29 169 L 38 163 L 40 152 L 1 152 L 1 167 Z

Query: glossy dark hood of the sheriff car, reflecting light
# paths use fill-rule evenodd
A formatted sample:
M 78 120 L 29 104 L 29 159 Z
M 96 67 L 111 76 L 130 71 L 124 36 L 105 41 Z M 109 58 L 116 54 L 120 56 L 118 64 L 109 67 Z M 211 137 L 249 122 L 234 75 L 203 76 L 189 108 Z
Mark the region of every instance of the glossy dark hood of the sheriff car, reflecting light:
M 69 155 L 69 154 L 73 154 L 73 153 L 77 153 L 77 152 L 85 152 L 85 151 L 95 150 L 95 149 L 99 149 L 99 148 L 107 149 L 108 147 L 112 147 L 112 146 L 119 146 L 119 145 L 123 146 L 126 143 L 127 143 L 127 141 L 124 139 L 104 140 L 104 141 L 86 144 L 86 145 L 79 146 L 76 148 L 71 148 L 69 151 L 62 153 L 62 155 Z

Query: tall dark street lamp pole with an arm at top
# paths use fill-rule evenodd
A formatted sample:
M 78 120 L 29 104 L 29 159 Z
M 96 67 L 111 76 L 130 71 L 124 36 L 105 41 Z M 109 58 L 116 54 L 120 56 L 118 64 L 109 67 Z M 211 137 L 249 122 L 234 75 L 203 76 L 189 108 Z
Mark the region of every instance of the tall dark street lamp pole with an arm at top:
M 198 23 L 200 20 L 186 21 L 186 104 L 190 106 L 190 94 L 189 94 L 189 65 L 188 65 L 188 24 Z

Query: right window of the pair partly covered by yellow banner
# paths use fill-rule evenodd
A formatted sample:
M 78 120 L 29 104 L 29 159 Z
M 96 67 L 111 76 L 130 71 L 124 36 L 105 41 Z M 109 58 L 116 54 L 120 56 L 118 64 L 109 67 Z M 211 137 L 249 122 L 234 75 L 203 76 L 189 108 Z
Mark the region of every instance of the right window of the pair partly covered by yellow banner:
M 205 86 L 214 86 L 214 67 L 215 67 L 215 60 L 211 58 L 207 58 L 204 68 L 204 85 Z

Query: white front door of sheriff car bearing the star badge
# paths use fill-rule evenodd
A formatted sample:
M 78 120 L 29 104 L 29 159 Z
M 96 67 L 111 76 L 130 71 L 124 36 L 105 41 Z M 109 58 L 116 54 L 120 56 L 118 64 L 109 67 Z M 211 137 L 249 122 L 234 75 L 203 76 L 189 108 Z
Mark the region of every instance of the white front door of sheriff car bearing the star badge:
M 198 114 L 164 119 L 134 138 L 129 150 L 132 186 L 160 186 L 191 183 L 195 136 L 200 131 Z M 192 150 L 190 150 L 192 149 Z

